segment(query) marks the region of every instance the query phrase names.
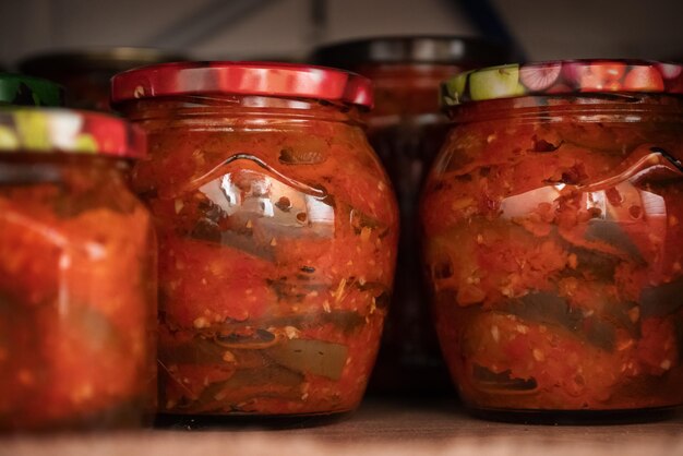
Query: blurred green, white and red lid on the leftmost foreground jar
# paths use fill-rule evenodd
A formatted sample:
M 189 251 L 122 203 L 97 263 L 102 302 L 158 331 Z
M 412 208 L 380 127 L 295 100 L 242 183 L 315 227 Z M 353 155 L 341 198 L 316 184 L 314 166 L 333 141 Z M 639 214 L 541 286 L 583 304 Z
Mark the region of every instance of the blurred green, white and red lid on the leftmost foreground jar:
M 68 153 L 142 158 L 143 131 L 118 117 L 70 109 L 0 109 L 0 155 Z

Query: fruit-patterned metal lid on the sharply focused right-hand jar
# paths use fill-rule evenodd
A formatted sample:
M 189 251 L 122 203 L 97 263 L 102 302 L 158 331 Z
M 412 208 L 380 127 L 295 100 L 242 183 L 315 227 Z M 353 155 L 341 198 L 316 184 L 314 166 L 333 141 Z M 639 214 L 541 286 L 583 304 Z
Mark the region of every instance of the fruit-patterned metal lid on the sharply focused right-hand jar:
M 646 60 L 562 60 L 468 71 L 442 84 L 444 105 L 526 95 L 683 94 L 683 65 Z

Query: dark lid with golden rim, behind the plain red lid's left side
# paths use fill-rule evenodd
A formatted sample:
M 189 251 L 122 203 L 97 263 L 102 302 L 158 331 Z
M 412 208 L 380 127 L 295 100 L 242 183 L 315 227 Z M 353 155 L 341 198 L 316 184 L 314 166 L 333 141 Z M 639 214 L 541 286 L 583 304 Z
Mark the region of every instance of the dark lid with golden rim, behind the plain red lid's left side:
M 136 67 L 179 60 L 185 58 L 155 48 L 104 47 L 38 53 L 22 60 L 19 68 L 24 73 L 38 76 L 89 71 L 115 74 Z

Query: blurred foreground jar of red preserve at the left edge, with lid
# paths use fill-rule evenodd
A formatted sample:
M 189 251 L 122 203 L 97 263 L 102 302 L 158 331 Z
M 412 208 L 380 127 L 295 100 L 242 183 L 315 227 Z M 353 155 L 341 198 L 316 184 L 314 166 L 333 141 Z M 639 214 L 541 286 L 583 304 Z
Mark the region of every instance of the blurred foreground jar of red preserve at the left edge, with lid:
M 151 421 L 151 216 L 127 187 L 137 129 L 71 110 L 0 110 L 0 431 Z

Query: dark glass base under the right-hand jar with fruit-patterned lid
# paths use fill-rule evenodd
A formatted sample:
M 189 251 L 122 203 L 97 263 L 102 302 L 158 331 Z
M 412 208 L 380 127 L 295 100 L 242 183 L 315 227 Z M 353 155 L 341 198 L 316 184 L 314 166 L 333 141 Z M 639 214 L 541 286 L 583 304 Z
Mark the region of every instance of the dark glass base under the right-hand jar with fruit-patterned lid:
M 664 421 L 681 415 L 680 407 L 614 410 L 522 410 L 467 407 L 475 418 L 519 424 L 596 425 Z

